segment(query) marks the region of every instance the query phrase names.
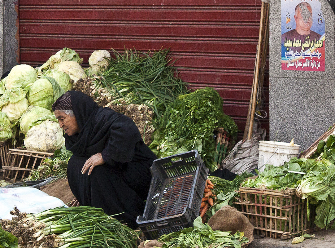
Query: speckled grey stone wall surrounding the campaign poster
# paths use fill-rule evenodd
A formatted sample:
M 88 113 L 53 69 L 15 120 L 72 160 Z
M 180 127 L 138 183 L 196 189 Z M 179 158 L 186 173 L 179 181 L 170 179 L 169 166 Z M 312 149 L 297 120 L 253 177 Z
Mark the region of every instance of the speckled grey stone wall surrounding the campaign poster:
M 313 144 L 335 122 L 334 12 L 325 21 L 325 71 L 281 70 L 281 0 L 270 1 L 270 140 Z

